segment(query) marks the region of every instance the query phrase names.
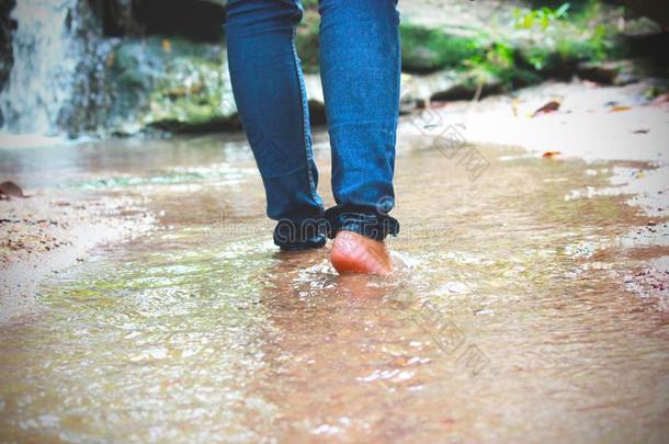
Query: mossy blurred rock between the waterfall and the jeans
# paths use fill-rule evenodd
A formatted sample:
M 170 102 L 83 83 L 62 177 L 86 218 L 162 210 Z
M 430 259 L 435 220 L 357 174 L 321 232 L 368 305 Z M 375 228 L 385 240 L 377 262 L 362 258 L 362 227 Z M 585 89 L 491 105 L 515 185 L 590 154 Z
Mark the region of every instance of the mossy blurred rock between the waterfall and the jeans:
M 159 37 L 124 41 L 109 60 L 110 124 L 116 133 L 236 125 L 222 46 Z

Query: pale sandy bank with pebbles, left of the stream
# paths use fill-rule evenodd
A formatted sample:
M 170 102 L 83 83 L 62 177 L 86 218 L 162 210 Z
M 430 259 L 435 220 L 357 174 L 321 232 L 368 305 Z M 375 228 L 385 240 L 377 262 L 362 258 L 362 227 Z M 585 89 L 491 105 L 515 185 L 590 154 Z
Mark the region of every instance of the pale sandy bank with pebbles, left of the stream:
M 58 189 L 0 201 L 0 325 L 36 309 L 42 280 L 83 262 L 95 247 L 145 232 L 154 220 L 135 198 Z

